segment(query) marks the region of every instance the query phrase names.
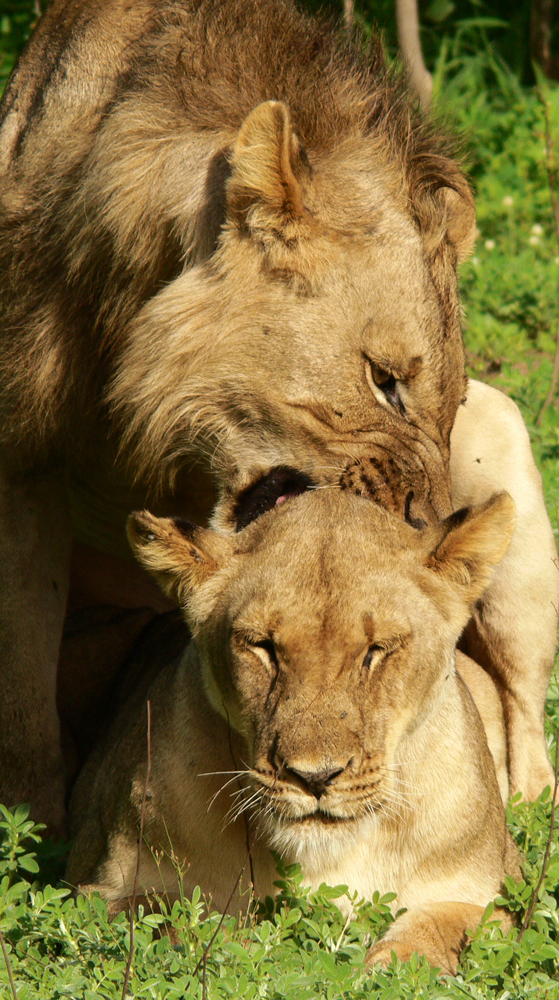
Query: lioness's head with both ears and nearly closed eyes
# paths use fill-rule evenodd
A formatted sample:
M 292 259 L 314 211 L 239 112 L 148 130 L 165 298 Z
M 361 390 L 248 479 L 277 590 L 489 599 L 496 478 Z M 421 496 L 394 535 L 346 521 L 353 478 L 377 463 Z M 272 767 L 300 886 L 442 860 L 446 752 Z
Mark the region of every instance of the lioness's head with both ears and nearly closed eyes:
M 132 515 L 132 548 L 179 600 L 211 703 L 246 738 L 274 836 L 353 823 L 390 800 L 514 519 L 500 494 L 419 531 L 334 490 L 234 538 Z

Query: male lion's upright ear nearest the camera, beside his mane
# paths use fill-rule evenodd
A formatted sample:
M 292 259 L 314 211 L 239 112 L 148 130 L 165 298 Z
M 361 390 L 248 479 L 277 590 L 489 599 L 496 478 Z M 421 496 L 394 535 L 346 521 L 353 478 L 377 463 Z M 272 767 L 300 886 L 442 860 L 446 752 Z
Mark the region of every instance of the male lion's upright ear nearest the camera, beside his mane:
M 228 217 L 243 228 L 281 228 L 304 213 L 298 177 L 309 171 L 306 154 L 282 101 L 259 104 L 245 118 L 227 182 Z

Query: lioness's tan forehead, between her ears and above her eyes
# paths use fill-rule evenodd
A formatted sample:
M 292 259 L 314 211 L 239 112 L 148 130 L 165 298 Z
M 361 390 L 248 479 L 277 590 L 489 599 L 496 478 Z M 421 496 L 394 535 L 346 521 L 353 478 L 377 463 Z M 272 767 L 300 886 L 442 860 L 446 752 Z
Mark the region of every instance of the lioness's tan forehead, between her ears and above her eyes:
M 306 643 L 364 642 L 379 631 L 408 633 L 410 609 L 415 614 L 429 601 L 421 532 L 337 489 L 286 501 L 237 540 L 237 568 L 224 594 L 237 630 L 271 631 L 288 643 L 301 635 Z

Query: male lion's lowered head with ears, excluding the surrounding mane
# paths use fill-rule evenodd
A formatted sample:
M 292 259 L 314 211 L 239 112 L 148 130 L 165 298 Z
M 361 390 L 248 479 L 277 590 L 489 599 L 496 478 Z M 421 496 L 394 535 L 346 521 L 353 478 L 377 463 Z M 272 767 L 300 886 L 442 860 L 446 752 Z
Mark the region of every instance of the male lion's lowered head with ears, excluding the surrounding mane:
M 110 398 L 137 469 L 169 471 L 194 437 L 238 495 L 278 465 L 324 481 L 379 437 L 448 456 L 470 192 L 441 158 L 412 193 L 386 137 L 361 129 L 307 156 L 283 102 L 242 123 L 213 252 L 128 331 Z

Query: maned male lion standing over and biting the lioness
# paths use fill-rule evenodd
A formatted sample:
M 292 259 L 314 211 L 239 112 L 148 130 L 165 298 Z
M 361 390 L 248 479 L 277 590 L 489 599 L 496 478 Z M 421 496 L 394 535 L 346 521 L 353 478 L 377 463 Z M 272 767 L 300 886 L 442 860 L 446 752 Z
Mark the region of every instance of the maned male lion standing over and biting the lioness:
M 450 511 L 474 209 L 380 56 L 282 0 L 53 0 L 6 90 L 0 178 L 0 798 L 60 831 L 68 592 L 162 607 L 131 509 L 204 521 L 219 494 L 234 531 L 365 458 L 412 523 Z M 471 391 L 462 439 L 502 442 L 530 515 L 503 572 L 534 613 L 504 586 L 477 624 L 532 796 L 553 540 L 522 421 L 493 397 L 471 415 Z M 495 464 L 457 460 L 453 489 L 487 498 Z

